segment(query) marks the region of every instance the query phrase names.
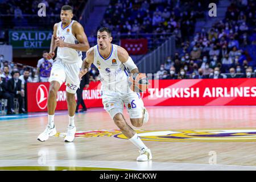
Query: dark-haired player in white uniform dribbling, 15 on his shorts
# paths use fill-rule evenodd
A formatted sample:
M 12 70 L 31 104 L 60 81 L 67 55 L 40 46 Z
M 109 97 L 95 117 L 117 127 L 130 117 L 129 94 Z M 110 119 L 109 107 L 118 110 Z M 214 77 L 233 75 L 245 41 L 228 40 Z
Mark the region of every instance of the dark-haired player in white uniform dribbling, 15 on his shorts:
M 122 114 L 123 104 L 125 104 L 133 126 L 141 127 L 148 121 L 148 113 L 143 101 L 139 94 L 129 88 L 127 81 L 129 76 L 126 68 L 130 73 L 139 73 L 139 70 L 124 48 L 111 43 L 113 39 L 111 34 L 109 28 L 104 27 L 98 30 L 97 45 L 86 52 L 79 77 L 88 72 L 92 63 L 97 66 L 102 82 L 101 96 L 104 109 L 108 111 L 122 133 L 139 148 L 141 155 L 137 160 L 151 160 L 150 149 L 126 123 Z

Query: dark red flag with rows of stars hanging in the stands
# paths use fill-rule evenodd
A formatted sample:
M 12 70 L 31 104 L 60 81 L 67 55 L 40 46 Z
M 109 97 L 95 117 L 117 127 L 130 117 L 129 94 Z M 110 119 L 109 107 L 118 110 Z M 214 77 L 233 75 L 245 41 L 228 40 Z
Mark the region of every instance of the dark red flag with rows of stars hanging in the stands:
M 121 47 L 130 55 L 144 55 L 147 53 L 147 39 L 121 39 Z

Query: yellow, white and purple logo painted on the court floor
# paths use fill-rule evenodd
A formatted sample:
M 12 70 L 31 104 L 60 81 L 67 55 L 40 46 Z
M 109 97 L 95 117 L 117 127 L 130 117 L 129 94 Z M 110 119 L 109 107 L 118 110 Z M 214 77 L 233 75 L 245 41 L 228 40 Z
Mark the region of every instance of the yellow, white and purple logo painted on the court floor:
M 156 142 L 256 142 L 256 129 L 221 130 L 136 130 L 144 141 Z M 65 137 L 57 133 L 56 137 Z M 120 130 L 79 131 L 76 137 L 115 137 L 127 139 Z

